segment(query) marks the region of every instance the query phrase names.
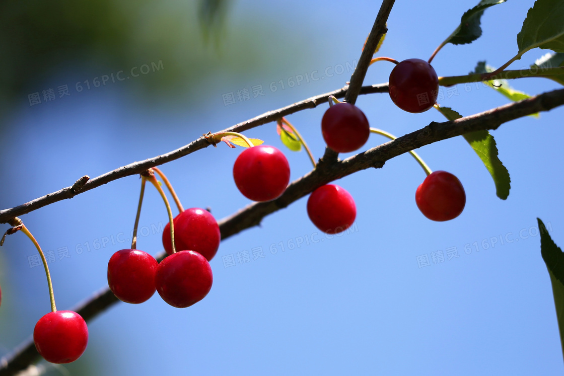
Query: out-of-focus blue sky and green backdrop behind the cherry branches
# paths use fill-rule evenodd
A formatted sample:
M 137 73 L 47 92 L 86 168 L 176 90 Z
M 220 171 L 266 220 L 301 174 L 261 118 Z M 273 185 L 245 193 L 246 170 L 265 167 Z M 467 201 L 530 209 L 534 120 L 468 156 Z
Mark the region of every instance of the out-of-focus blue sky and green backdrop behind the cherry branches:
M 476 3 L 397 1 L 378 55 L 427 59 Z M 505 63 L 517 52 L 515 36 L 532 4 L 489 8 L 482 38 L 447 45 L 435 57 L 439 76 L 466 74 L 479 60 Z M 379 7 L 332 0 L 2 2 L 0 207 L 342 87 Z M 526 68 L 546 52 L 530 51 L 512 68 Z M 365 83 L 386 82 L 392 68 L 373 65 Z M 123 81 L 112 79 L 120 71 Z M 318 81 L 304 78 L 290 87 L 289 81 L 314 71 Z M 263 95 L 253 92 L 259 85 Z M 542 78 L 513 86 L 529 94 L 559 87 Z M 43 91 L 49 98 L 50 89 L 54 99 L 46 100 Z M 506 103 L 481 84 L 442 90 L 439 103 L 464 115 Z M 34 93 L 41 103 L 34 103 Z M 398 136 L 443 121 L 435 110 L 402 112 L 386 94 L 360 96 L 357 104 L 371 126 Z M 324 150 L 326 108 L 288 118 L 316 157 Z M 81 359 L 49 374 L 561 374 L 536 217 L 562 246 L 563 113 L 558 108 L 492 132 L 512 179 L 506 201 L 496 197 L 464 139 L 428 145 L 417 152 L 431 169 L 450 171 L 464 184 L 467 202 L 459 218 L 435 223 L 418 211 L 415 190 L 425 175 L 411 156 L 347 176 L 337 184 L 358 208 L 349 233 L 325 237 L 307 218 L 302 198 L 261 227 L 222 242 L 211 261 L 213 288 L 200 303 L 177 309 L 158 294 L 140 305 L 118 303 L 89 323 Z M 311 170 L 305 152 L 284 149 L 274 123 L 246 134 L 282 149 L 292 180 Z M 365 148 L 385 141 L 372 135 Z M 210 207 L 219 220 L 249 204 L 231 177 L 241 150 L 206 148 L 162 170 L 185 207 Z M 107 285 L 109 257 L 129 247 L 138 194 L 139 179 L 131 176 L 22 217 L 43 250 L 54 252 L 59 309 Z M 166 220 L 149 187 L 139 249 L 162 250 Z M 69 256 L 61 259 L 65 247 Z M 264 257 L 254 259 L 259 247 Z M 245 250 L 250 259 L 239 260 Z M 444 259 L 436 257 L 439 250 Z M 30 266 L 35 254 L 21 233 L 0 250 L 2 356 L 49 312 L 45 273 Z M 418 262 L 424 255 L 428 266 Z M 230 257 L 234 266 L 225 262 Z

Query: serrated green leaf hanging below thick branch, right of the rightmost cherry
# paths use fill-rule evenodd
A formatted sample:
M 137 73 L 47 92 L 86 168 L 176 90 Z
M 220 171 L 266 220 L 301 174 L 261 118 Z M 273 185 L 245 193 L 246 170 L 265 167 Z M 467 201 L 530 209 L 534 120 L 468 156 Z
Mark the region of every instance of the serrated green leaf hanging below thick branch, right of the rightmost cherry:
M 461 114 L 449 107 L 438 107 L 437 109 L 444 117 L 451 121 L 462 117 Z M 498 151 L 495 139 L 486 130 L 467 133 L 463 136 L 490 172 L 495 184 L 497 197 L 505 200 L 509 196 L 511 179 L 509 178 L 509 171 L 507 171 L 499 157 L 497 157 Z

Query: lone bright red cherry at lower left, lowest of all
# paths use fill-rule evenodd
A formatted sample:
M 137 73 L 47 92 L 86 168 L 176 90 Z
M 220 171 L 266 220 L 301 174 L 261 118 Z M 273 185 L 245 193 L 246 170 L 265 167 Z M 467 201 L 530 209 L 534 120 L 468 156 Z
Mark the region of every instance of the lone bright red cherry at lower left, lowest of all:
M 51 363 L 70 363 L 82 355 L 88 344 L 88 327 L 73 311 L 49 312 L 33 330 L 37 352 Z

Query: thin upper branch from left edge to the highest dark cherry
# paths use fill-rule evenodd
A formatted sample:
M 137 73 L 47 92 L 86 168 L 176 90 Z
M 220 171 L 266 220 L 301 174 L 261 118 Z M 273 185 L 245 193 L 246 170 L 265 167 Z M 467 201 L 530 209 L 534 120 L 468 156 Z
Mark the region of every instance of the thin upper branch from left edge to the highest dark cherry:
M 283 116 L 288 116 L 289 114 L 293 114 L 308 108 L 315 108 L 319 104 L 327 103 L 329 95 L 333 95 L 336 98 L 343 98 L 346 95 L 347 90 L 348 87 L 345 86 L 332 92 L 312 96 L 311 98 L 299 101 L 286 107 L 263 113 L 262 115 L 254 117 L 250 120 L 233 125 L 230 128 L 225 129 L 224 131 L 243 132 L 254 127 L 261 126 L 263 124 L 276 121 Z M 387 85 L 381 84 L 364 86 L 360 90 L 360 94 L 372 94 L 377 92 L 387 92 Z M 100 187 L 100 185 L 113 182 L 113 180 L 140 174 L 141 172 L 146 171 L 151 167 L 160 166 L 164 163 L 177 160 L 178 158 L 187 156 L 188 154 L 191 154 L 195 151 L 204 149 L 209 145 L 210 144 L 208 143 L 208 141 L 206 141 L 203 137 L 200 137 L 199 139 L 192 141 L 190 144 L 183 146 L 182 148 L 179 148 L 175 151 L 162 154 L 157 157 L 149 158 L 141 162 L 130 163 L 127 166 L 106 172 L 105 174 L 90 180 L 88 180 L 88 176 L 85 175 L 82 178 L 78 179 L 77 182 L 72 185 L 72 187 L 60 189 L 59 191 L 46 194 L 43 197 L 36 198 L 35 200 L 12 207 L 10 209 L 0 210 L 0 223 L 7 223 L 9 220 L 14 219 L 16 216 L 30 213 L 31 211 L 37 210 L 43 206 L 54 204 L 55 202 L 66 200 L 67 198 L 73 198 L 77 194 L 90 191 L 90 189 L 94 189 Z

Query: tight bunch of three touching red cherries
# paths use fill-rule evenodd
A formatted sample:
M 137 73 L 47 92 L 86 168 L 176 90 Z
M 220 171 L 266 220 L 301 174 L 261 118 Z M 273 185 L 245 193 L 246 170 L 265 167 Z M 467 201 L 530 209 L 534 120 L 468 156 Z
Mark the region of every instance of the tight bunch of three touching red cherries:
M 177 308 L 192 306 L 208 295 L 213 275 L 209 260 L 217 253 L 221 234 L 215 218 L 206 210 L 184 210 L 174 218 L 175 247 L 172 253 L 170 226 L 162 233 L 169 254 L 160 263 L 150 254 L 122 249 L 108 262 L 108 285 L 126 303 L 143 303 L 155 294 Z

